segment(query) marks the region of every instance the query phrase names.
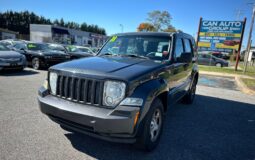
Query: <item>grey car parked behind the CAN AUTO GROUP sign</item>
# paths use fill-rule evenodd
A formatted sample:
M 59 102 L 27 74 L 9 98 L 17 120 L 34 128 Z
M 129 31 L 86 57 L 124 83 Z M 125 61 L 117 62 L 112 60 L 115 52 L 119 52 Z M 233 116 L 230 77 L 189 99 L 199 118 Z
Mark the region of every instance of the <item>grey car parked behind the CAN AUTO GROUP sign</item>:
M 228 61 L 217 58 L 211 54 L 206 53 L 198 53 L 198 60 L 199 65 L 207 65 L 207 66 L 217 66 L 217 67 L 228 67 Z

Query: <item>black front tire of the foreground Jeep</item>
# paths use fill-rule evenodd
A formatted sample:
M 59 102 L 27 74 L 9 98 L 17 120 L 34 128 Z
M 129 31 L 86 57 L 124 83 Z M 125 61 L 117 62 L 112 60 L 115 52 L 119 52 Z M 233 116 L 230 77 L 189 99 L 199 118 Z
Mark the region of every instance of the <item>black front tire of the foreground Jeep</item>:
M 157 115 L 159 115 L 158 120 L 155 119 Z M 156 127 L 154 125 L 155 122 L 158 125 L 158 130 L 154 130 L 156 128 L 153 128 Z M 160 99 L 156 98 L 152 102 L 150 110 L 148 111 L 145 117 L 145 123 L 142 129 L 143 133 L 140 137 L 137 138 L 136 145 L 145 151 L 152 151 L 159 143 L 163 129 L 163 122 L 164 122 L 163 104 Z M 152 135 L 154 135 L 154 137 L 152 137 Z

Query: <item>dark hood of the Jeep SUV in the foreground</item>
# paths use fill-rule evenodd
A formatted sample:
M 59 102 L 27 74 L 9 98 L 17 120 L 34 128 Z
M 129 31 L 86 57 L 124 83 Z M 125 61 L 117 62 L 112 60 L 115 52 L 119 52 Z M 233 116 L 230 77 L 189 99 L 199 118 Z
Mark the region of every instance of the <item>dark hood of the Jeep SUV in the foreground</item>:
M 51 70 L 60 70 L 81 73 L 88 76 L 100 76 L 103 78 L 116 78 L 131 81 L 143 74 L 159 68 L 163 64 L 149 59 L 109 56 L 88 57 L 61 63 L 51 67 Z

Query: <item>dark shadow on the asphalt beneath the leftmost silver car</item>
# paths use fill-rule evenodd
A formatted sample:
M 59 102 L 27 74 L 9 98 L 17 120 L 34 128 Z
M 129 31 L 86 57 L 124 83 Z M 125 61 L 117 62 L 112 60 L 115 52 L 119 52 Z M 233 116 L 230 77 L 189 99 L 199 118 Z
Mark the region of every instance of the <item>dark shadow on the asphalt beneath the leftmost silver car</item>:
M 29 75 L 34 75 L 34 74 L 38 74 L 38 71 L 35 70 L 31 70 L 31 69 L 25 69 L 22 71 L 16 71 L 16 70 L 9 70 L 9 71 L 1 71 L 0 72 L 0 76 L 6 76 L 6 77 L 10 77 L 10 76 L 29 76 Z

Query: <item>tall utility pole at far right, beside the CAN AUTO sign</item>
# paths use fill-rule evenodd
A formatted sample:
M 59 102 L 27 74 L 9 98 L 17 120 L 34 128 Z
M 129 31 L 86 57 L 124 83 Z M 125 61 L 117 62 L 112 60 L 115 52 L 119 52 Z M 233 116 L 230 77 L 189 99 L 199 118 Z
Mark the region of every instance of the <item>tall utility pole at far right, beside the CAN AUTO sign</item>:
M 247 64 L 248 64 L 248 56 L 250 53 L 250 49 L 251 49 L 251 37 L 252 37 L 252 31 L 253 31 L 253 24 L 254 24 L 254 18 L 255 18 L 255 4 L 253 4 L 253 9 L 252 9 L 252 20 L 251 20 L 251 27 L 250 27 L 250 32 L 249 32 L 249 37 L 248 37 L 248 42 L 247 42 L 247 46 L 246 46 L 246 53 L 245 53 L 245 61 L 244 61 L 244 70 L 243 73 L 246 72 L 247 69 Z

